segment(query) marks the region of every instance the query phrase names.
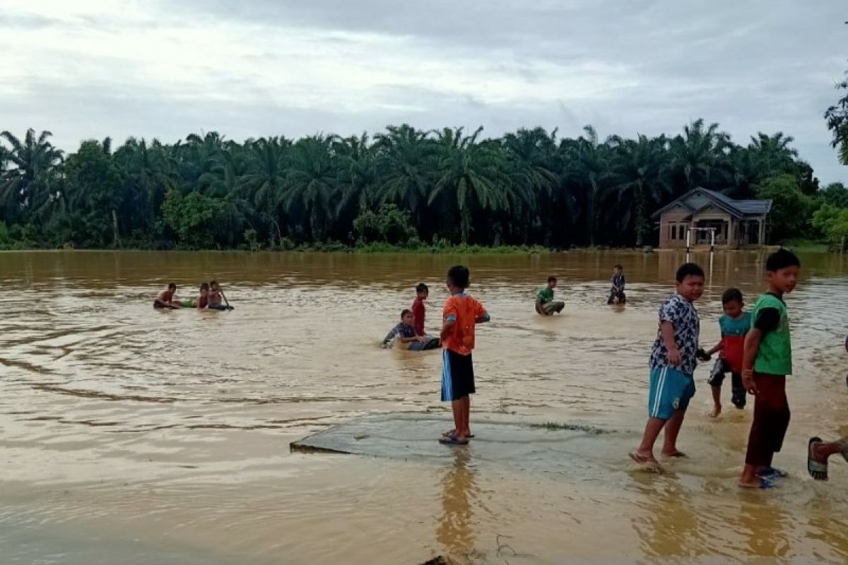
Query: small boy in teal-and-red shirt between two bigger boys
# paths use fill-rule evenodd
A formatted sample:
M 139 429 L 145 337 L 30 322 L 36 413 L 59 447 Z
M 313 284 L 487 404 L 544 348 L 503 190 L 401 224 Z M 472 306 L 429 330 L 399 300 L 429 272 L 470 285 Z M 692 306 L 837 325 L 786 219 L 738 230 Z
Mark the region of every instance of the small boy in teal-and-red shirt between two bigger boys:
M 710 372 L 707 381 L 712 388 L 712 401 L 715 406 L 710 414 L 716 418 L 722 413 L 722 383 L 724 376 L 730 373 L 732 396 L 730 402 L 740 410 L 745 407 L 745 387 L 742 386 L 742 353 L 745 351 L 745 334 L 750 330 L 750 313 L 743 310 L 745 302 L 742 292 L 736 288 L 728 288 L 722 294 L 722 309 L 724 314 L 718 319 L 722 330 L 722 341 L 706 352 L 707 356 L 719 352 L 716 364 Z

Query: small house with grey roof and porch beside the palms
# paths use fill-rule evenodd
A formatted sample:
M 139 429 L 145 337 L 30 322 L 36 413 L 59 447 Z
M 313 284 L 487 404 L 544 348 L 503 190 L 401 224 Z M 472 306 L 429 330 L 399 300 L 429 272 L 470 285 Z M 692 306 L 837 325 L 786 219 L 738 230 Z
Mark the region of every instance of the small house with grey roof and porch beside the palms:
M 653 214 L 660 248 L 712 245 L 725 249 L 766 245 L 771 200 L 734 200 L 695 188 Z

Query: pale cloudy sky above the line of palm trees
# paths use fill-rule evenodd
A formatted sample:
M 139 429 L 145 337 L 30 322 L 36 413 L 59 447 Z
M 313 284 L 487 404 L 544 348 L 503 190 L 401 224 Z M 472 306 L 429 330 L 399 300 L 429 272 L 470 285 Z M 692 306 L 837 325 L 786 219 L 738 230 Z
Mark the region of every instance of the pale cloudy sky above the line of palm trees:
M 0 0 L 0 130 L 176 141 L 521 126 L 783 131 L 848 184 L 823 111 L 845 0 Z

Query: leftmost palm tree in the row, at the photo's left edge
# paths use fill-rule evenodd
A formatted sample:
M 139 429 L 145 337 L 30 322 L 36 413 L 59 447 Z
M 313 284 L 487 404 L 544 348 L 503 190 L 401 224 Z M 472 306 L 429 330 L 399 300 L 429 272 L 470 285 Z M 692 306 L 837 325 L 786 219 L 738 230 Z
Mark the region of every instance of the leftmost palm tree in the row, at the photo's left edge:
M 10 149 L 4 150 L 7 169 L 0 179 L 0 204 L 8 217 L 20 218 L 27 210 L 42 210 L 58 197 L 57 168 L 62 162 L 62 152 L 47 141 L 53 134 L 26 130 L 24 141 L 8 131 L 0 133 Z M 10 165 L 10 166 L 9 166 Z

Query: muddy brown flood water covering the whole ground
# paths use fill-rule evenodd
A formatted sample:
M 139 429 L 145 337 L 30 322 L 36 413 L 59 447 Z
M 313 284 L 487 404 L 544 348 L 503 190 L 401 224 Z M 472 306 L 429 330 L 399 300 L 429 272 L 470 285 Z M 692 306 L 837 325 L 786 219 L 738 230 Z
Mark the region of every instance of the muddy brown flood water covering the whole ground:
M 764 258 L 694 259 L 708 271 L 697 307 L 711 346 L 722 290 L 737 285 L 753 302 Z M 848 434 L 848 261 L 801 259 L 787 301 L 792 422 L 775 459 L 790 476 L 740 492 L 752 403 L 736 410 L 726 385 L 722 418 L 708 418 L 709 363 L 679 441 L 689 458 L 652 474 L 627 457 L 679 253 L 0 253 L 0 561 L 845 563 L 848 465 L 831 459 L 828 483 L 809 479 L 806 440 Z M 527 457 L 476 457 L 474 442 L 498 441 L 485 436 L 444 457 L 290 452 L 365 417 L 448 424 L 439 352 L 379 344 L 420 281 L 436 329 L 444 272 L 458 261 L 493 320 L 477 335 L 472 429 L 605 433 Z M 628 278 L 623 308 L 605 304 L 614 263 Z M 548 274 L 566 301 L 555 318 L 533 312 Z M 212 278 L 232 312 L 151 307 L 170 280 L 189 296 Z

